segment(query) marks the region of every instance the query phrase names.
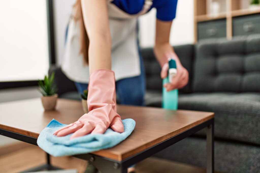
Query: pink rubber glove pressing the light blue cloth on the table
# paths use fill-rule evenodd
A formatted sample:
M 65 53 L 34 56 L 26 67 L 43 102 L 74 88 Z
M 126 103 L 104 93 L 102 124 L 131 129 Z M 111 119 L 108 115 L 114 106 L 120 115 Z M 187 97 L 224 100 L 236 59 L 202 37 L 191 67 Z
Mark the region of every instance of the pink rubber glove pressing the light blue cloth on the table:
M 63 127 L 54 135 L 66 136 L 74 133 L 70 139 L 89 133 L 104 133 L 108 127 L 115 132 L 124 132 L 120 115 L 116 113 L 115 77 L 111 70 L 95 70 L 89 77 L 88 110 L 80 119 Z

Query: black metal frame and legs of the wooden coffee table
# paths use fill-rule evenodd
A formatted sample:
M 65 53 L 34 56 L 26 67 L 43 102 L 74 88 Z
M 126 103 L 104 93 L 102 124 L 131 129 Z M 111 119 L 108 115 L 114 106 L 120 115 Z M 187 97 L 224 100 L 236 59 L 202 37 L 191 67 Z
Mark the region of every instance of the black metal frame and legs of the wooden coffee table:
M 184 138 L 198 132 L 203 128 L 206 131 L 206 154 L 207 154 L 206 172 L 213 173 L 214 172 L 214 118 L 207 120 L 197 126 L 194 126 L 178 135 L 170 137 L 169 139 L 162 141 L 150 148 L 147 148 L 144 151 L 141 151 L 122 161 L 112 160 L 94 154 L 80 154 L 80 155 L 74 155 L 74 157 L 89 161 L 102 173 L 127 173 L 127 168 L 129 166 L 138 163 L 141 160 L 144 160 L 145 158 L 148 158 L 155 153 L 158 153 L 159 151 L 173 145 L 174 143 L 179 142 L 180 140 L 183 140 Z M 37 145 L 37 138 L 35 137 L 22 135 L 4 129 L 0 129 L 0 134 L 23 142 Z M 48 170 L 59 169 L 50 164 L 49 154 L 47 154 L 46 156 L 47 156 L 47 164 L 41 165 L 40 167 L 33 168 L 24 172 L 32 172 L 32 171 L 37 171 L 42 169 L 48 169 Z

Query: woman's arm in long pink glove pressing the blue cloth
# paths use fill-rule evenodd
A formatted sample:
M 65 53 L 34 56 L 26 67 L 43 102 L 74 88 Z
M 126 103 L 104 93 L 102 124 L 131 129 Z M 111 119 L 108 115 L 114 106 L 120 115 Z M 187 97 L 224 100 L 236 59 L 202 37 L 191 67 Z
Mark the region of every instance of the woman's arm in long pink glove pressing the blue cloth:
M 53 134 L 70 139 L 102 134 L 108 127 L 124 132 L 121 117 L 116 113 L 115 75 L 111 68 L 111 38 L 106 0 L 81 0 L 84 24 L 89 38 L 88 110 L 74 123 Z

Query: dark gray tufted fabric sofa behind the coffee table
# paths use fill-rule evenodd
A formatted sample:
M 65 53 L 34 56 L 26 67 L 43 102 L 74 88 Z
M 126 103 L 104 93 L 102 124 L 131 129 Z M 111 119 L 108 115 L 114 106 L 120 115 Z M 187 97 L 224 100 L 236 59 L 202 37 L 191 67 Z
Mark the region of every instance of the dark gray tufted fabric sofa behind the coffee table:
M 187 86 L 179 90 L 179 109 L 215 112 L 215 170 L 260 170 L 260 35 L 232 40 L 201 40 L 174 46 L 189 71 Z M 146 106 L 161 107 L 160 66 L 152 48 L 141 50 L 145 69 Z M 76 88 L 60 68 L 55 83 L 62 98 L 79 99 Z M 156 157 L 205 167 L 203 131 L 162 150 Z

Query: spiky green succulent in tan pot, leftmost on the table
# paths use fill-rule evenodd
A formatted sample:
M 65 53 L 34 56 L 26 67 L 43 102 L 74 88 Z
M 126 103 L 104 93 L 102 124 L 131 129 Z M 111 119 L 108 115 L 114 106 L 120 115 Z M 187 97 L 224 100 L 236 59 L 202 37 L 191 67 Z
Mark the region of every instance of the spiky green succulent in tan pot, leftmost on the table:
M 42 94 L 42 106 L 45 110 L 54 110 L 56 107 L 57 97 L 57 87 L 53 85 L 54 73 L 51 73 L 50 77 L 45 75 L 44 80 L 38 80 L 39 90 Z

